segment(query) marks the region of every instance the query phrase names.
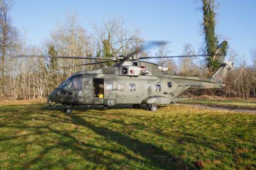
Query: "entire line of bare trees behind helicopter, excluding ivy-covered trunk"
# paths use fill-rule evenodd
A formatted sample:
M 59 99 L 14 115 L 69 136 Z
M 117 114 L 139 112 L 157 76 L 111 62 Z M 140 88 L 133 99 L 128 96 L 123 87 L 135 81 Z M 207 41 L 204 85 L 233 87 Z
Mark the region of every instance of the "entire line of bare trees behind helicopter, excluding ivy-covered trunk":
M 94 26 L 92 33 L 88 33 L 79 24 L 76 15 L 70 13 L 65 22 L 58 24 L 40 47 L 32 46 L 29 45 L 26 34 L 22 36 L 19 30 L 12 25 L 10 1 L 0 0 L 0 5 L 1 99 L 47 97 L 54 88 L 73 73 L 102 67 L 102 65 L 74 66 L 94 60 L 60 59 L 54 58 L 54 56 L 109 58 L 120 54 L 129 54 L 144 43 L 139 29 L 125 25 L 122 19 L 103 22 L 99 26 Z M 159 44 L 154 52 L 156 56 L 168 55 L 168 46 Z M 26 54 L 26 56 L 20 54 Z M 196 52 L 191 45 L 186 44 L 183 54 L 191 55 Z M 234 56 L 231 57 L 234 59 Z M 226 88 L 211 91 L 189 91 L 189 93 L 255 98 L 256 50 L 252 50 L 252 61 L 254 61 L 253 65 L 248 66 L 248 63 L 240 62 L 230 71 Z M 207 68 L 207 59 L 159 59 L 153 62 L 167 66 L 170 74 L 198 77 L 209 77 L 211 74 L 211 70 Z M 111 64 L 107 63 L 107 65 Z

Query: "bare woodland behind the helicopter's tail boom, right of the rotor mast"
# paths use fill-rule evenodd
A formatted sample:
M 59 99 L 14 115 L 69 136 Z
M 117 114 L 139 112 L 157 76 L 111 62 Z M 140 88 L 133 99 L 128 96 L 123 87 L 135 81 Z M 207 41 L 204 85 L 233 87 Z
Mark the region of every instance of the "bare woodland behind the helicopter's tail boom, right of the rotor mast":
M 183 55 L 193 55 L 195 50 L 189 44 L 184 45 Z M 182 93 L 187 96 L 216 95 L 228 98 L 256 98 L 256 49 L 251 50 L 247 59 L 230 49 L 227 60 L 234 62 L 234 67 L 228 72 L 225 88 L 222 89 L 190 89 Z M 163 62 L 163 61 L 162 61 Z M 178 61 L 165 61 L 169 73 L 174 75 L 209 78 L 214 72 L 210 72 L 205 66 L 205 59 L 181 58 Z

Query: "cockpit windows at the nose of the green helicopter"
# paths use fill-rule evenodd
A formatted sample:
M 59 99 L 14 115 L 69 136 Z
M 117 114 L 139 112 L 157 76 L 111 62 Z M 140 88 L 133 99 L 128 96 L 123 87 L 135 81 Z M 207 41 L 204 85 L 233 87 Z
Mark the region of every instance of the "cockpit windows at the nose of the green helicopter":
M 82 90 L 82 74 L 76 74 L 69 77 L 67 81 L 63 82 L 59 88 L 71 89 L 71 90 Z

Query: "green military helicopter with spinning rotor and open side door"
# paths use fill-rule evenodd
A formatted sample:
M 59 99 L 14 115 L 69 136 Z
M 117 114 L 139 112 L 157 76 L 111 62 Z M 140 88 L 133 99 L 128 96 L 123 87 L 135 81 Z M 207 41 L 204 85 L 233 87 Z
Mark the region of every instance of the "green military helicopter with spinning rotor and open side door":
M 218 50 L 220 51 L 220 50 Z M 101 59 L 93 63 L 83 65 L 97 65 L 113 61 L 111 67 L 88 72 L 77 72 L 71 75 L 65 82 L 48 97 L 48 104 L 66 105 L 65 112 L 72 112 L 75 105 L 104 105 L 108 106 L 132 104 L 133 108 L 147 104 L 149 111 L 157 111 L 159 104 L 172 104 L 180 100 L 177 96 L 189 88 L 211 89 L 223 88 L 228 70 L 234 65 L 231 61 L 226 61 L 220 69 L 209 79 L 198 77 L 181 77 L 167 75 L 163 68 L 154 63 L 141 61 L 141 59 L 153 58 L 185 58 L 209 55 L 192 56 L 157 56 L 138 57 L 140 52 L 136 50 L 126 56 L 116 56 L 109 58 L 87 58 L 77 57 L 75 59 Z M 218 56 L 220 54 L 216 54 Z M 222 54 L 221 54 L 222 55 Z M 58 57 L 72 58 L 73 57 Z

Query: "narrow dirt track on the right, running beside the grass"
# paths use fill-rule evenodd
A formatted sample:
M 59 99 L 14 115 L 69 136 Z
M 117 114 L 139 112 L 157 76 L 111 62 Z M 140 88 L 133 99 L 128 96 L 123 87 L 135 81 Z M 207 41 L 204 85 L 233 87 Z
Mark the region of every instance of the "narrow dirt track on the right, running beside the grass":
M 223 106 L 214 106 L 214 105 L 201 105 L 201 104 L 178 104 L 186 105 L 191 107 L 200 107 L 205 109 L 216 109 L 216 110 L 225 110 L 225 111 L 234 111 L 234 112 L 248 112 L 256 114 L 256 109 L 243 109 L 243 108 L 234 108 L 234 107 L 223 107 Z

